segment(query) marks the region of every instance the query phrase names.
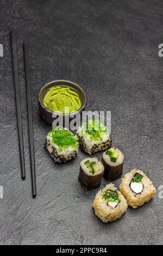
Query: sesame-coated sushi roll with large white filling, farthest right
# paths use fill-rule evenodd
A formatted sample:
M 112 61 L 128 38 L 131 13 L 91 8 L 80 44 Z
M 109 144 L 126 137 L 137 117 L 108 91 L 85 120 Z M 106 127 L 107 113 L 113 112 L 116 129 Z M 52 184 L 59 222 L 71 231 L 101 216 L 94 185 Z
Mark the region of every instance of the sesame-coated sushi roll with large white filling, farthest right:
M 142 170 L 138 169 L 133 169 L 124 175 L 120 191 L 126 198 L 128 205 L 134 209 L 147 203 L 156 193 L 152 181 Z

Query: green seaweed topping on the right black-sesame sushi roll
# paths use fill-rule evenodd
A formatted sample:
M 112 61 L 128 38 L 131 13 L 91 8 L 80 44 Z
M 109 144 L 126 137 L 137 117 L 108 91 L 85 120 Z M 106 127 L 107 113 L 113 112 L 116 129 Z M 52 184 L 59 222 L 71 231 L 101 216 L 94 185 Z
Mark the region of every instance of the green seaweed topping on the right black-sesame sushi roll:
M 90 141 L 102 141 L 102 134 L 108 135 L 108 129 L 96 119 L 90 119 L 87 123 L 83 123 L 82 131 L 89 135 Z

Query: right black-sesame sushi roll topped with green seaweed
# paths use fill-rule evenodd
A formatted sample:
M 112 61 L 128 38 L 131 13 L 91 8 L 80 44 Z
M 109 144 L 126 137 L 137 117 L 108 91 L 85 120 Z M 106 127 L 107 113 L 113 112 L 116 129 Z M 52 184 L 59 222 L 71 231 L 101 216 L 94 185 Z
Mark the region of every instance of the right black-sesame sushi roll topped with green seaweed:
M 111 145 L 108 129 L 98 120 L 83 123 L 76 132 L 80 147 L 88 154 L 105 150 Z

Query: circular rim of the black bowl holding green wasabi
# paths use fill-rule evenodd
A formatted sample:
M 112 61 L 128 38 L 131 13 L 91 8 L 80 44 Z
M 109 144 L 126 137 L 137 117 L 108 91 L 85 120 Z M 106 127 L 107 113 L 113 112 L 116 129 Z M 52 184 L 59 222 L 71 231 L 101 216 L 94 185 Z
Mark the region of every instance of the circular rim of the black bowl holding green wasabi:
M 84 95 L 84 102 L 82 103 L 82 107 L 80 107 L 77 111 L 70 112 L 70 113 L 58 113 L 58 112 L 53 112 L 53 111 L 51 111 L 50 109 L 48 109 L 47 107 L 45 107 L 45 106 L 43 105 L 42 101 L 41 101 L 41 93 L 42 93 L 42 90 L 45 89 L 49 84 L 55 83 L 55 82 L 66 82 L 66 83 L 68 82 L 68 83 L 74 84 L 74 86 L 76 86 L 77 88 L 79 88 L 79 89 L 82 91 L 83 95 Z M 62 84 L 61 86 L 64 86 L 64 84 Z M 66 85 L 65 85 L 65 87 L 66 87 Z M 67 87 L 68 87 L 68 86 L 67 86 Z M 54 81 L 51 81 L 51 82 L 46 83 L 45 86 L 41 87 L 41 89 L 40 89 L 40 91 L 39 91 L 39 93 L 38 93 L 38 101 L 39 101 L 40 106 L 41 106 L 45 111 L 47 111 L 49 114 L 55 113 L 55 114 L 57 114 L 57 115 L 64 115 L 64 116 L 66 116 L 66 115 L 75 114 L 75 113 L 78 113 L 78 112 L 83 111 L 83 109 L 85 109 L 85 107 L 86 107 L 87 96 L 86 96 L 86 94 L 85 94 L 83 88 L 80 87 L 77 83 L 74 83 L 74 82 L 69 81 L 69 80 L 54 80 Z

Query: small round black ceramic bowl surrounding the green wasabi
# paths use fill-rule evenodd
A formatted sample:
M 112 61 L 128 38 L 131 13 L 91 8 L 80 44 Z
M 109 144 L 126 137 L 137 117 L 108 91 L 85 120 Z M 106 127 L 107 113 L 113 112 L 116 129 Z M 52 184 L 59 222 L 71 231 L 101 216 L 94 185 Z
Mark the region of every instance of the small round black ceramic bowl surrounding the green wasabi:
M 80 107 L 80 109 L 78 109 L 78 111 L 71 112 L 70 114 L 76 114 L 77 112 L 79 112 L 81 115 L 82 111 L 84 111 L 86 103 L 87 103 L 86 94 L 84 93 L 83 89 L 80 86 L 78 86 L 78 84 L 70 82 L 70 81 L 65 81 L 65 80 L 57 80 L 57 81 L 47 83 L 45 86 L 43 86 L 41 88 L 39 95 L 38 95 L 38 100 L 39 100 L 39 110 L 40 110 L 41 117 L 44 120 L 46 120 L 49 124 L 52 124 L 56 118 L 52 117 L 53 112 L 43 105 L 43 99 L 49 89 L 51 89 L 52 87 L 58 87 L 58 86 L 59 87 L 69 87 L 71 90 L 74 90 L 74 92 L 78 93 L 78 95 L 80 97 L 80 100 L 82 102 L 82 107 Z M 56 112 L 55 112 L 55 114 L 58 116 L 61 116 L 63 118 L 63 120 L 65 120 L 65 117 L 67 117 L 67 115 L 69 115 L 69 117 L 70 117 L 70 114 L 61 114 L 61 113 L 56 113 Z M 70 118 L 70 121 L 71 120 L 72 120 L 72 118 Z

